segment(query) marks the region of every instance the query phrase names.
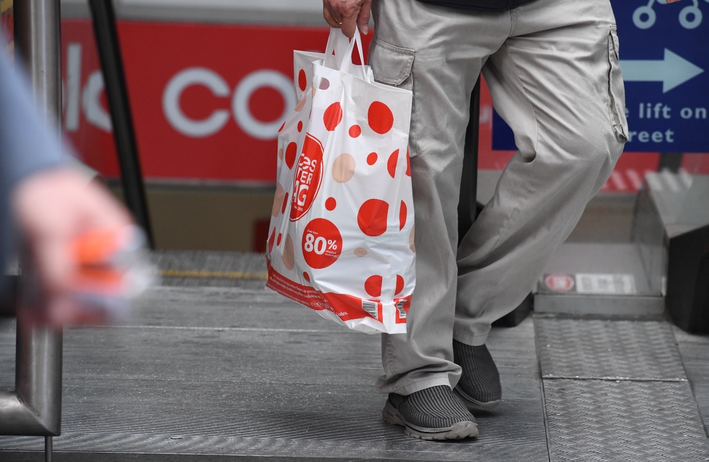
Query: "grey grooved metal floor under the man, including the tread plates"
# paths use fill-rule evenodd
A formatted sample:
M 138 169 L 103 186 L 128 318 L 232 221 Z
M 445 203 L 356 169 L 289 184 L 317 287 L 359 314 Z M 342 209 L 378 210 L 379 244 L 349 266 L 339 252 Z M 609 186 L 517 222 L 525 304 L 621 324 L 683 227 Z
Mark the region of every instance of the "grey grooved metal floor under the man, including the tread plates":
M 210 258 L 122 325 L 67 330 L 55 461 L 709 460 L 709 337 L 542 315 L 495 328 L 502 405 L 476 415 L 476 439 L 421 441 L 381 419 L 379 336 L 216 274 L 259 274 L 254 256 L 217 269 Z M 13 332 L 0 320 L 1 390 L 13 388 Z M 0 437 L 2 462 L 40 461 L 42 449 Z

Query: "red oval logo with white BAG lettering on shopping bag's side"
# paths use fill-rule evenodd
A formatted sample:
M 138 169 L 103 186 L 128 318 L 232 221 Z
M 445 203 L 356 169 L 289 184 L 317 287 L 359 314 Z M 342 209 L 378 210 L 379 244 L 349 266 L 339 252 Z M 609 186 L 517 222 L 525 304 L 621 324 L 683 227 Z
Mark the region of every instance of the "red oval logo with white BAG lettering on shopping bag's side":
M 296 176 L 293 178 L 293 196 L 291 197 L 291 221 L 300 220 L 308 210 L 320 190 L 323 181 L 323 145 L 306 133 L 303 151 L 298 159 Z

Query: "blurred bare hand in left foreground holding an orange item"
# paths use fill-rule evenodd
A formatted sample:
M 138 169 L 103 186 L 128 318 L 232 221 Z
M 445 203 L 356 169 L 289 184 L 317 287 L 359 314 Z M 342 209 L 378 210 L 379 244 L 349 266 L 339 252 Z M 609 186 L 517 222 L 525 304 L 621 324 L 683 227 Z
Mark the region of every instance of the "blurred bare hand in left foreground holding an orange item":
M 128 211 L 99 184 L 68 168 L 41 171 L 21 181 L 12 205 L 43 291 L 43 321 L 54 327 L 102 322 L 99 313 L 87 314 L 72 300 L 72 278 L 77 274 L 73 243 L 91 230 L 129 225 Z

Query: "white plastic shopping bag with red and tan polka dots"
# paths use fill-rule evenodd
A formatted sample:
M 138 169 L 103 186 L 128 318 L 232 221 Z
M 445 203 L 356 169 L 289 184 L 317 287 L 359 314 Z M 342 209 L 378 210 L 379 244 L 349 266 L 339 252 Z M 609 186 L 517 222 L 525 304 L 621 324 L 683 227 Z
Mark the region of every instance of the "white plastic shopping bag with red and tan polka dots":
M 295 52 L 300 102 L 279 130 L 267 287 L 361 332 L 406 332 L 415 285 L 408 160 L 411 91 L 352 64 L 330 31 L 325 54 Z

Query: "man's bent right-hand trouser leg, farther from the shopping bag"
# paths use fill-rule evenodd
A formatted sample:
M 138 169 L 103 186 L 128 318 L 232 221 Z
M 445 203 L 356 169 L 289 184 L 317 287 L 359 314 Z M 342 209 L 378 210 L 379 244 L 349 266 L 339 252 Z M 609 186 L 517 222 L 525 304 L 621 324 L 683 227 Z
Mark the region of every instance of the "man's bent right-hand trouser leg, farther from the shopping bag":
M 483 74 L 519 151 L 458 251 L 458 342 L 484 344 L 613 171 L 627 136 L 617 47 L 608 0 L 513 11 L 510 38 Z

